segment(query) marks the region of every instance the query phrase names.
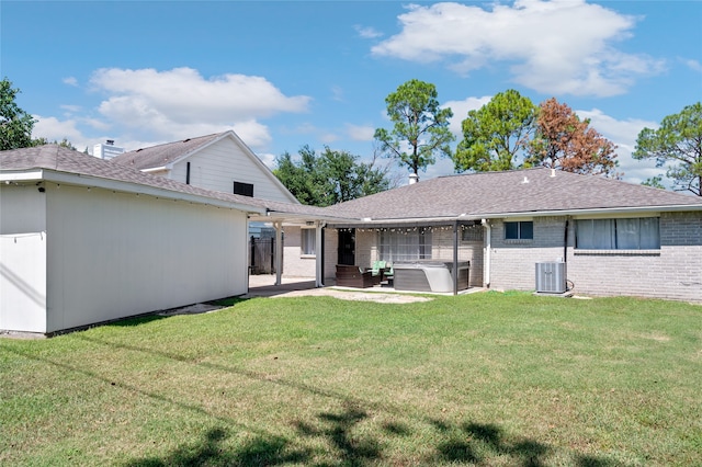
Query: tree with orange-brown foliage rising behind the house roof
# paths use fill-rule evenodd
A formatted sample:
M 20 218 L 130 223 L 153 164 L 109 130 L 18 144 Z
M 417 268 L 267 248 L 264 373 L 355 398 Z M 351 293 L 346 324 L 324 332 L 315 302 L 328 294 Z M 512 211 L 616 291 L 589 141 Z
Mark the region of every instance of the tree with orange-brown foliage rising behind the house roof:
M 525 166 L 544 166 L 566 172 L 618 176 L 616 146 L 590 128 L 555 98 L 539 105 L 536 132 Z

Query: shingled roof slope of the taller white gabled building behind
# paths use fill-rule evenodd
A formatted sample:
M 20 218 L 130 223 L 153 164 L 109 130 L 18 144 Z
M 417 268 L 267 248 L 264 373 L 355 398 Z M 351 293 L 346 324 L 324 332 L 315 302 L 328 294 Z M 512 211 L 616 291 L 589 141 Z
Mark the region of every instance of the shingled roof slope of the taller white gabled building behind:
M 166 143 L 158 146 L 136 149 L 134 151 L 115 156 L 110 161 L 113 163 L 129 166 L 139 170 L 155 169 L 171 163 L 181 157 L 213 143 L 226 133 L 227 132 L 216 133 L 213 135 L 199 136 L 196 138 L 188 138 L 180 141 Z

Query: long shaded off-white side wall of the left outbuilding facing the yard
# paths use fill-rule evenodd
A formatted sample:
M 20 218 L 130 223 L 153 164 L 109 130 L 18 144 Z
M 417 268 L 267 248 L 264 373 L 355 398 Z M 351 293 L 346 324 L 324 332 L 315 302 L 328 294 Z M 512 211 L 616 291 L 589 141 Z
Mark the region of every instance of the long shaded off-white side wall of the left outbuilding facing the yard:
M 246 293 L 246 214 L 47 186 L 45 332 Z

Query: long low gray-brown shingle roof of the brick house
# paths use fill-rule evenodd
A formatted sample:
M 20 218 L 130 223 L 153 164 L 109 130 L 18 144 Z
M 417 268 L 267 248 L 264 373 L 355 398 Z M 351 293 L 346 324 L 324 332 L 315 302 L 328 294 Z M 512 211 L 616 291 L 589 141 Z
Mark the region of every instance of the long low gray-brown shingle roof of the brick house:
M 374 220 L 489 217 L 554 210 L 699 206 L 702 200 L 602 176 L 545 168 L 449 175 L 328 208 L 329 215 Z

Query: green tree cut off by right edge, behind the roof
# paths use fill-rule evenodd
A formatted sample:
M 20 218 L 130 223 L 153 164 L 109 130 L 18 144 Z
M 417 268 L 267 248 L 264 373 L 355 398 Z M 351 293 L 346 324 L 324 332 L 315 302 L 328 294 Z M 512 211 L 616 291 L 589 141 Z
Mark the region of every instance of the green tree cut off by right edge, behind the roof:
M 671 163 L 666 176 L 672 179 L 673 190 L 702 196 L 702 104 L 666 116 L 658 129 L 642 129 L 632 156 L 656 159 L 657 167 Z

